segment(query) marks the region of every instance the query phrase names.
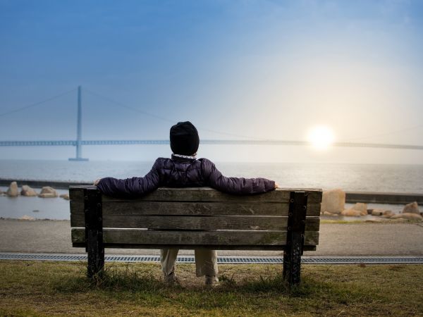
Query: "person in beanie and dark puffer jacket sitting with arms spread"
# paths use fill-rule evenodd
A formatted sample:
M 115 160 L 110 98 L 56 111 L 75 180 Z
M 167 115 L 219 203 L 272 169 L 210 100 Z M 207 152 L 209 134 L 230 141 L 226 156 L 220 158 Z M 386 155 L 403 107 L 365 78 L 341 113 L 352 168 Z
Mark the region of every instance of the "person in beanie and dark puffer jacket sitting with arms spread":
M 228 194 L 249 195 L 269 192 L 278 187 L 266 178 L 226 178 L 214 163 L 208 159 L 197 159 L 200 144 L 197 129 L 189 121 L 173 125 L 170 132 L 171 159 L 159 158 L 152 170 L 143 178 L 125 180 L 102 178 L 94 185 L 105 195 L 112 197 L 137 198 L 158 187 L 203 187 L 209 186 Z M 161 249 L 161 267 L 164 280 L 171 285 L 176 280 L 175 262 L 178 249 Z M 205 275 L 206 285 L 216 285 L 216 250 L 195 249 L 197 277 Z

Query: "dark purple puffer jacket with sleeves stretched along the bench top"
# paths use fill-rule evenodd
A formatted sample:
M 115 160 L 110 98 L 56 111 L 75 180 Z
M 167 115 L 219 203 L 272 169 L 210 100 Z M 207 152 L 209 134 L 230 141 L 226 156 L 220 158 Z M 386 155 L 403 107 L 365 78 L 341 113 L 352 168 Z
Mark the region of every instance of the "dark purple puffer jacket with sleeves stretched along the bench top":
M 226 178 L 208 159 L 159 158 L 143 178 L 102 178 L 97 188 L 107 196 L 137 198 L 157 187 L 209 186 L 229 194 L 259 194 L 275 188 L 266 178 Z

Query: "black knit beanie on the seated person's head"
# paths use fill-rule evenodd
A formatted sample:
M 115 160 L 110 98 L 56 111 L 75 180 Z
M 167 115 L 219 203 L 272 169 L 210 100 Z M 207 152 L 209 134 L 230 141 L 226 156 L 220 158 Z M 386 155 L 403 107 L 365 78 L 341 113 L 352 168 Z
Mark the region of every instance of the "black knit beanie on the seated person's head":
M 192 155 L 197 153 L 200 137 L 190 121 L 178 122 L 171 128 L 171 149 L 173 154 Z

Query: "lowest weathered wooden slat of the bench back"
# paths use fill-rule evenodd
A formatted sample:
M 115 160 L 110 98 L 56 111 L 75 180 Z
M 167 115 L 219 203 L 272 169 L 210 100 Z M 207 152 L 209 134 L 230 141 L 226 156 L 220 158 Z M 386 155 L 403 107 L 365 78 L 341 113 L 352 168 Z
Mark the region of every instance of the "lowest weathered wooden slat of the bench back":
M 85 242 L 85 229 L 72 229 L 72 242 Z M 136 229 L 104 229 L 104 244 L 161 244 L 168 246 L 192 245 L 255 245 L 283 246 L 285 231 L 154 231 Z M 305 232 L 305 245 L 317 245 L 319 232 Z

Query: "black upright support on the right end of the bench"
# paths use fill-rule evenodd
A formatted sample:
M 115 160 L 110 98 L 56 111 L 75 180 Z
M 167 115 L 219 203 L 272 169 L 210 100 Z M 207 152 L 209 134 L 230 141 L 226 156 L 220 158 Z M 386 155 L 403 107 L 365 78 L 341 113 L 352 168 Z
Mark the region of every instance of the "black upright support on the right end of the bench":
M 307 197 L 307 192 L 290 192 L 286 247 L 283 251 L 283 278 L 288 279 L 290 285 L 300 282 Z

